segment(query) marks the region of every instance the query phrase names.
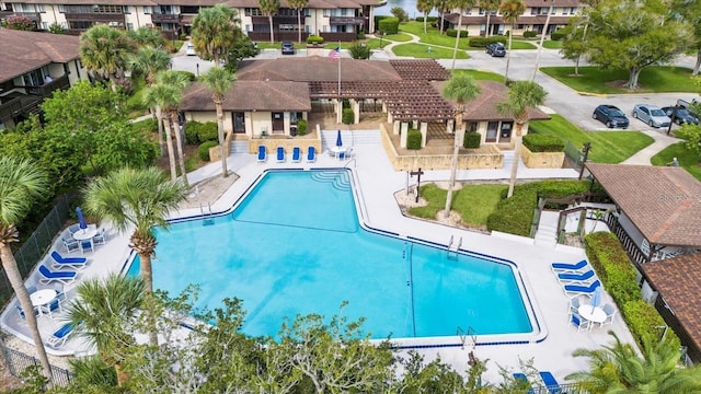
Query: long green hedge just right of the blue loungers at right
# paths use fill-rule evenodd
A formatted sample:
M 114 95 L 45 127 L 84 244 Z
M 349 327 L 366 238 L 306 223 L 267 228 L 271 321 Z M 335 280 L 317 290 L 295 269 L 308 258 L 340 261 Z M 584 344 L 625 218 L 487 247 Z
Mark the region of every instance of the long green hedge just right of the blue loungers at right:
M 635 268 L 618 237 L 600 231 L 587 235 L 584 241 L 589 263 L 607 292 L 619 305 L 621 315 L 637 345 L 642 347 L 645 338 L 657 340 L 662 335 L 659 327 L 667 324 L 655 306 L 642 299 Z M 679 338 L 671 331 L 667 332 L 665 340 L 673 341 L 676 347 L 681 346 Z

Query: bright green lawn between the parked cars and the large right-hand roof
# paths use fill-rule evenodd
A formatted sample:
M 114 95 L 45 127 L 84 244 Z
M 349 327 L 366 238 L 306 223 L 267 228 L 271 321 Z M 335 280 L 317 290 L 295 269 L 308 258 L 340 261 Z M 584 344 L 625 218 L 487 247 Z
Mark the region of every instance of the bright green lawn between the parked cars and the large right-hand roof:
M 584 142 L 591 142 L 589 160 L 595 163 L 620 163 L 654 142 L 652 137 L 640 131 L 583 131 L 561 115 L 551 117 L 550 120 L 531 121 L 530 130 L 558 136 L 577 149 L 582 149 Z

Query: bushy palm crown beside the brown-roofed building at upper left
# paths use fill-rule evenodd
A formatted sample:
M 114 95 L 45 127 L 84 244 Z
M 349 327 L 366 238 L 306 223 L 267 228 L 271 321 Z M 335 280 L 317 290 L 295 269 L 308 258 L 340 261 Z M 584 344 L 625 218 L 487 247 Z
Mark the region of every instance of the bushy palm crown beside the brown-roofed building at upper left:
M 95 25 L 80 36 L 80 61 L 93 77 L 112 81 L 114 89 L 114 79 L 122 77 L 133 47 L 123 31 L 105 24 Z

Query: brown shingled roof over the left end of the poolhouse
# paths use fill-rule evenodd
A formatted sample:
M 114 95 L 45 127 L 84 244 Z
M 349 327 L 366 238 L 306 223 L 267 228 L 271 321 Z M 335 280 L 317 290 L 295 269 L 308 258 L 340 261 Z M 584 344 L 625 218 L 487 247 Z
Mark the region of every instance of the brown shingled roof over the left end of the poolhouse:
M 300 82 L 237 81 L 223 101 L 223 111 L 311 111 L 309 86 Z M 215 111 L 211 91 L 203 83 L 187 86 L 180 104 L 183 111 Z

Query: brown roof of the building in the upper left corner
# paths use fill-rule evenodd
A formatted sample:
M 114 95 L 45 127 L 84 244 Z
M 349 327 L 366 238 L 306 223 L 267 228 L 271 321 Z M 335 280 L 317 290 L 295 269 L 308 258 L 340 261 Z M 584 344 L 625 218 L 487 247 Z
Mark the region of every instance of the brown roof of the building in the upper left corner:
M 80 38 L 70 35 L 0 28 L 0 81 L 78 59 L 79 47 Z

